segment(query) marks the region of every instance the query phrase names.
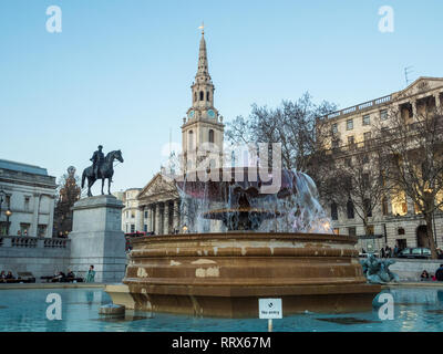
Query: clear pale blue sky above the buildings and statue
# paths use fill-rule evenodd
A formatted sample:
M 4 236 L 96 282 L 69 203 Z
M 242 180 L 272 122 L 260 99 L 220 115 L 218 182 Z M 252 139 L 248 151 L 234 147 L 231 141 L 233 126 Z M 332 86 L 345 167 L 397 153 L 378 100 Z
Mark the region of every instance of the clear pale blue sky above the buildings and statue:
M 45 30 L 49 6 L 62 33 Z M 381 6 L 394 32 L 378 29 Z M 309 91 L 340 107 L 443 76 L 443 1 L 1 0 L 0 158 L 81 173 L 122 149 L 114 190 L 143 187 L 181 143 L 205 21 L 215 105 L 229 121 Z M 96 190 L 95 190 L 96 192 Z

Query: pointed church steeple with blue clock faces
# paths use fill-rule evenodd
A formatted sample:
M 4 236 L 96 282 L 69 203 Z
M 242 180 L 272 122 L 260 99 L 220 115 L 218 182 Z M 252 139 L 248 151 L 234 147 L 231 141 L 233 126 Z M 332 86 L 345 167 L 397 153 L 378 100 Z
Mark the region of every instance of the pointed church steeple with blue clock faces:
M 214 84 L 209 75 L 203 25 L 198 53 L 198 70 L 190 86 L 192 106 L 183 118 L 182 152 L 185 160 L 202 148 L 205 143 L 215 144 L 223 153 L 224 128 L 223 116 L 214 107 Z

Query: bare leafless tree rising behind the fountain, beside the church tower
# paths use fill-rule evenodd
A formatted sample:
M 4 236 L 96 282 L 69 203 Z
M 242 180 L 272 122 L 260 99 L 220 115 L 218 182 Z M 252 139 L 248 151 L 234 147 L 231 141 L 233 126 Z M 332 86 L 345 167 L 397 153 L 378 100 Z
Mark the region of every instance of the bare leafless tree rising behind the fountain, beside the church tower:
M 308 173 L 319 184 L 326 146 L 332 139 L 327 122 L 319 117 L 336 110 L 326 101 L 316 105 L 308 93 L 295 102 L 282 101 L 277 108 L 253 104 L 247 119 L 237 116 L 227 124 L 226 136 L 233 144 L 280 143 L 282 167 Z

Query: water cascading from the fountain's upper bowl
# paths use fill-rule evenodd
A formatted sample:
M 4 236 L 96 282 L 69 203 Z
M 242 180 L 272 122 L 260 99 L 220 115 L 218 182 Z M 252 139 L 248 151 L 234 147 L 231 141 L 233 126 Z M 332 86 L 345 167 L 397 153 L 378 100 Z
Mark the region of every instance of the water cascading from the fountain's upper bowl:
M 319 202 L 312 178 L 295 170 L 282 170 L 282 175 L 287 185 L 278 194 L 258 196 L 248 192 L 257 184 L 243 181 L 239 187 L 238 184 L 220 181 L 215 191 L 209 190 L 208 183 L 198 183 L 198 197 L 190 197 L 189 191 L 196 185 L 185 179 L 177 185 L 182 197 L 182 226 L 186 225 L 188 232 L 198 233 L 241 230 L 240 214 L 235 210 L 241 207 L 240 199 L 244 198 L 243 202 L 247 202 L 250 210 L 259 210 L 248 214 L 249 225 L 255 231 L 332 233 L 331 221 Z M 208 212 L 216 215 L 217 210 L 225 210 L 225 225 L 220 220 L 209 220 Z

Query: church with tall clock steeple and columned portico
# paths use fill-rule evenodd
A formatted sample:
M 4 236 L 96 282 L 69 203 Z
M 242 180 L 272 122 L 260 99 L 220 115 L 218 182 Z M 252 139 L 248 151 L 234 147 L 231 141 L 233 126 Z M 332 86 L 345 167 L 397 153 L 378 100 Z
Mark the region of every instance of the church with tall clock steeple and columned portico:
M 222 152 L 224 143 L 223 116 L 214 106 L 214 84 L 209 75 L 205 33 L 198 52 L 198 69 L 195 81 L 190 86 L 192 105 L 183 118 L 182 156 L 183 160 L 193 160 L 199 148 L 206 148 L 205 143 L 214 144 Z M 214 160 L 212 164 L 218 164 Z M 193 164 L 183 166 L 185 169 Z M 156 174 L 140 191 L 138 218 L 136 230 L 167 235 L 182 232 L 186 215 L 182 215 L 182 200 L 175 185 L 166 180 L 161 173 Z

